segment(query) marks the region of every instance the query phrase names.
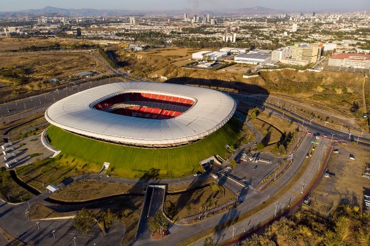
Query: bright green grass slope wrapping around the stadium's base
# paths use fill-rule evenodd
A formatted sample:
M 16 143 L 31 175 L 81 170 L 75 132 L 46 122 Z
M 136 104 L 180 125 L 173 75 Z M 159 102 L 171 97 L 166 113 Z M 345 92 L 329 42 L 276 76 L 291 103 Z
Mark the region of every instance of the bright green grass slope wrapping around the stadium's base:
M 224 146 L 231 146 L 237 141 L 240 127 L 241 123 L 232 118 L 222 128 L 196 143 L 167 149 L 109 144 L 77 136 L 55 126 L 48 128 L 47 137 L 61 153 L 82 159 L 89 165 L 100 168 L 103 162 L 110 162 L 114 175 L 140 178 L 151 170 L 149 174 L 154 174 L 154 177 L 177 178 L 201 170 L 199 161 L 207 157 L 217 154 L 223 157 L 227 152 Z

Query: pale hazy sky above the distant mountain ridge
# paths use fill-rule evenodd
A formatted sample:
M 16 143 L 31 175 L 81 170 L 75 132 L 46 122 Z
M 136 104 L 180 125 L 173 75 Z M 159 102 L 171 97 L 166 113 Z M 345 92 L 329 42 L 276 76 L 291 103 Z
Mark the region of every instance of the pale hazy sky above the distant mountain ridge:
M 370 0 L 0 0 L 0 11 L 61 8 L 220 10 L 254 6 L 285 10 L 370 10 Z

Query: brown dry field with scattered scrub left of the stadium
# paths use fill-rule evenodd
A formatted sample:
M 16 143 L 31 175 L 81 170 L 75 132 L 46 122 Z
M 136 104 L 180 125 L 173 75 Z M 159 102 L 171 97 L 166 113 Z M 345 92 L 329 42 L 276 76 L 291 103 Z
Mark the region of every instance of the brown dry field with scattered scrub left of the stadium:
M 49 87 L 50 78 L 64 80 L 81 71 L 104 71 L 91 56 L 72 52 L 3 53 L 0 55 L 0 69 L 13 73 L 9 77 L 0 76 L 0 82 L 8 85 L 0 88 L 1 98 L 11 96 L 12 91 L 21 94 Z M 45 84 L 41 83 L 39 87 L 37 84 L 40 82 Z

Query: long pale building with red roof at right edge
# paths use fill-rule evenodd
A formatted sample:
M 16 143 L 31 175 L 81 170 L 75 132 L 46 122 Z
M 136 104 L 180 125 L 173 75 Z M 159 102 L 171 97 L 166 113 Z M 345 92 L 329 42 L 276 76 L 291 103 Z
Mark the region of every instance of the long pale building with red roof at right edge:
M 329 57 L 329 66 L 370 69 L 370 55 L 339 53 Z

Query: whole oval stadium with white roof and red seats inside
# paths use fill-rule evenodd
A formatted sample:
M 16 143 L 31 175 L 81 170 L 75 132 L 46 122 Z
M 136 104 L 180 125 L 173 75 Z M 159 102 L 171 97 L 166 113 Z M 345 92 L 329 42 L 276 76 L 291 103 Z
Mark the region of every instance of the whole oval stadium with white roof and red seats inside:
M 190 144 L 222 127 L 234 114 L 230 96 L 201 87 L 120 82 L 68 96 L 45 111 L 46 120 L 83 137 L 167 148 Z

